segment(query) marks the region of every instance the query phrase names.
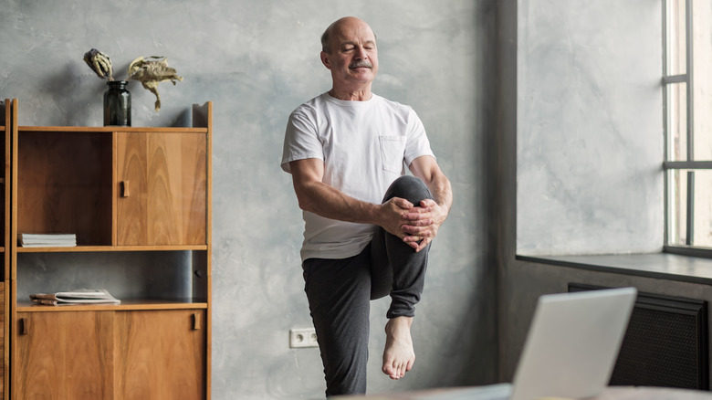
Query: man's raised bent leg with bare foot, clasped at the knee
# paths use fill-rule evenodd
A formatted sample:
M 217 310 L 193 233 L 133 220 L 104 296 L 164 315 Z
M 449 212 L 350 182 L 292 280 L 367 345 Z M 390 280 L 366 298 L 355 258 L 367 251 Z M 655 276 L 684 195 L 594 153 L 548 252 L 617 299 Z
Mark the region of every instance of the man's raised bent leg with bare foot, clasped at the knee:
M 414 205 L 433 198 L 423 181 L 414 176 L 401 176 L 389 187 L 383 202 L 402 197 Z M 419 252 L 403 243 L 400 237 L 379 228 L 372 240 L 372 299 L 386 294 L 391 306 L 386 313 L 386 345 L 383 351 L 384 374 L 400 379 L 415 361 L 410 327 L 415 304 L 424 289 L 430 245 Z

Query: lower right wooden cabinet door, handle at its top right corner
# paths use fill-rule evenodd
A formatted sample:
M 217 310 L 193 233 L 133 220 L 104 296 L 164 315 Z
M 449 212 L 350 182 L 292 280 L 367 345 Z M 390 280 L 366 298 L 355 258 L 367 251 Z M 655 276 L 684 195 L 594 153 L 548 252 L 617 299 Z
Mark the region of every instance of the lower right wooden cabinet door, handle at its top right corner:
M 205 311 L 117 311 L 116 398 L 205 398 Z

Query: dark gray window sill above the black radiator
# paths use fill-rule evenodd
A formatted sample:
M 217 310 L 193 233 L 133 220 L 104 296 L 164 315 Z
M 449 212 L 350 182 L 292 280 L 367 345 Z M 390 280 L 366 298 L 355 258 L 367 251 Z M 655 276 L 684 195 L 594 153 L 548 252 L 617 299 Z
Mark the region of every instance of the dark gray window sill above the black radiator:
M 670 253 L 599 256 L 522 256 L 520 261 L 646 278 L 712 285 L 712 259 Z

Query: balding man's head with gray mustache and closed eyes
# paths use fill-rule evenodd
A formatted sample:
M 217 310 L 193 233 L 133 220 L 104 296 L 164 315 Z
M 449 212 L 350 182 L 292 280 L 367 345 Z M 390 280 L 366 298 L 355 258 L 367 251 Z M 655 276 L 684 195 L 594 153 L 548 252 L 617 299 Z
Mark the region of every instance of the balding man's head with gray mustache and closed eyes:
M 370 84 L 378 72 L 376 37 L 371 27 L 359 19 L 335 26 L 330 35 L 330 54 L 322 52 L 321 60 L 331 70 L 335 88 L 358 89 Z

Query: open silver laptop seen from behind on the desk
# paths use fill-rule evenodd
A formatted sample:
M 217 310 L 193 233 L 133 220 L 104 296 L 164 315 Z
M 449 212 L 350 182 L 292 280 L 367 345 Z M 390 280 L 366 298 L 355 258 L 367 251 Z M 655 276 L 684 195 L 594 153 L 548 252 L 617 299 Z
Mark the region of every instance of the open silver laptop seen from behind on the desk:
M 512 384 L 414 398 L 534 400 L 600 395 L 611 380 L 636 295 L 636 289 L 623 288 L 541 296 Z

